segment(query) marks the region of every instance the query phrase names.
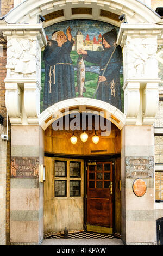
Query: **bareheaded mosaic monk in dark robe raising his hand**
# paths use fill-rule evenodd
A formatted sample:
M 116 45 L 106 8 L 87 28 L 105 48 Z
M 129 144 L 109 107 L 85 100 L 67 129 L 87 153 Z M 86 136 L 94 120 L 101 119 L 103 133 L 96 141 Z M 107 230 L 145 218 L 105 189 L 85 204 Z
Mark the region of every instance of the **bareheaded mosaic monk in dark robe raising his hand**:
M 74 69 L 70 52 L 74 41 L 71 28 L 54 31 L 52 40 L 43 52 L 45 62 L 45 86 L 43 92 L 43 110 L 62 100 L 76 97 L 74 87 Z

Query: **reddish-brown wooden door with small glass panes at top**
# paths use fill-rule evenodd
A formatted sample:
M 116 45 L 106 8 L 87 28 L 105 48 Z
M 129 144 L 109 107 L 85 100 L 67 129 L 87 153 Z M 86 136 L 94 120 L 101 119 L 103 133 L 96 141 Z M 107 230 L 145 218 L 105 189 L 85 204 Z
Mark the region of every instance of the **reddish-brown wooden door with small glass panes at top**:
M 87 163 L 87 230 L 112 234 L 112 162 Z

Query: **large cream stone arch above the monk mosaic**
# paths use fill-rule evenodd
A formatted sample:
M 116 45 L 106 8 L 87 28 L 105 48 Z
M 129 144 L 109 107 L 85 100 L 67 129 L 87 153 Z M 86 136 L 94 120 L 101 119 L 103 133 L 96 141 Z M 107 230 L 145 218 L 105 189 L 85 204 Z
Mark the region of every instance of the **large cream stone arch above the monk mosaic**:
M 73 15 L 72 8 L 92 8 L 91 14 L 82 14 L 84 19 L 97 19 L 106 22 L 107 17 L 100 15 L 100 10 L 105 10 L 116 15 L 126 14 L 128 23 L 161 22 L 161 17 L 155 11 L 138 0 L 124 0 L 123 2 L 119 0 L 27 0 L 17 5 L 4 18 L 7 23 L 37 23 L 39 15 L 48 15 L 54 11 L 64 10 L 64 20 L 77 19 L 76 14 Z M 61 21 L 59 19 L 60 17 L 57 22 Z M 108 20 L 110 22 L 111 19 L 108 18 Z

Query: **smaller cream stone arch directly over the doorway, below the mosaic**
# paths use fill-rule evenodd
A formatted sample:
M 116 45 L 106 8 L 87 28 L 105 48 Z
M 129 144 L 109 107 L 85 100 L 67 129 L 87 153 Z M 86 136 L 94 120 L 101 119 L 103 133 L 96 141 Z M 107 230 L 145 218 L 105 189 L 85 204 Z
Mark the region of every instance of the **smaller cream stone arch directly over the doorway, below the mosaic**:
M 72 110 L 73 109 L 73 110 Z M 89 98 L 76 98 L 68 99 L 48 107 L 43 111 L 39 116 L 40 126 L 45 130 L 53 121 L 59 119 L 62 115 L 67 114 L 67 111 L 70 113 L 77 112 L 91 112 L 96 111 L 98 115 L 101 112 L 107 118 L 110 117 L 111 122 L 114 123 L 118 129 L 122 129 L 125 124 L 125 115 L 116 107 L 110 105 L 101 100 L 89 99 Z

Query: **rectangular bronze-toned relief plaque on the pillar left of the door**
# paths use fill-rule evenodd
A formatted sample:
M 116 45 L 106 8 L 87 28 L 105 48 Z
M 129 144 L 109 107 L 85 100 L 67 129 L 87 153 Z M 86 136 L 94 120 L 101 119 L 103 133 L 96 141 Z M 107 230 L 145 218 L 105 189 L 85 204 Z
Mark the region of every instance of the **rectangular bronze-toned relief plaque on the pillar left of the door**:
M 11 178 L 39 178 L 39 157 L 11 157 Z

